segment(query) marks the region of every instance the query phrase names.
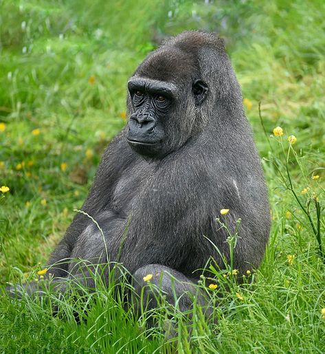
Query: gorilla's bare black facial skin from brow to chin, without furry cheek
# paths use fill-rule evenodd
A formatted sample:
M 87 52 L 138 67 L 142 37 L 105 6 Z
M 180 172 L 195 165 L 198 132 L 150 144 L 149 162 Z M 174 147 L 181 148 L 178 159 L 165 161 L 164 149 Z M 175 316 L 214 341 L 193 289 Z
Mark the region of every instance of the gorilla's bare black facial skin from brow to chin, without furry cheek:
M 170 82 L 133 76 L 128 81 L 133 113 L 128 121 L 128 144 L 148 157 L 166 153 L 166 124 L 173 115 L 177 87 Z

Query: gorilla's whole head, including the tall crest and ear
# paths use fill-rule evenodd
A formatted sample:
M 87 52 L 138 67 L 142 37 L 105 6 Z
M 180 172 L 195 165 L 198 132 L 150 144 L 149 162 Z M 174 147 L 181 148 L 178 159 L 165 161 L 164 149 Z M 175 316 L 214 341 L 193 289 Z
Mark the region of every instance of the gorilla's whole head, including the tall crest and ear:
M 216 91 L 222 93 L 231 81 L 228 78 L 224 85 L 220 78 L 229 74 L 232 69 L 220 38 L 204 32 L 171 38 L 128 80 L 128 144 L 155 159 L 181 148 L 203 129 L 214 111 Z M 218 85 L 224 87 L 218 90 Z

